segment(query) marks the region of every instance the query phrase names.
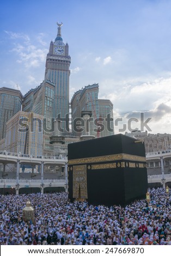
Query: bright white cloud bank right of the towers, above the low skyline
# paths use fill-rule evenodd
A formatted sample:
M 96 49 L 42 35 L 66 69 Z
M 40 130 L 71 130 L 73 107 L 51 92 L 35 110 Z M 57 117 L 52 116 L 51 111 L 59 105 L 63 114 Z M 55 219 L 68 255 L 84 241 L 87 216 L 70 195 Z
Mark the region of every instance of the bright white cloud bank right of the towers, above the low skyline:
M 138 79 L 143 80 L 142 78 Z M 132 83 L 130 84 L 130 81 Z M 114 120 L 122 118 L 115 125 L 115 133 L 120 133 L 123 124 L 128 128 L 130 118 L 138 119 L 138 123 L 132 121 L 131 128 L 141 130 L 140 113 L 144 113 L 144 121 L 148 122 L 150 133 L 170 133 L 171 125 L 171 76 L 158 78 L 146 83 L 137 80 L 104 80 L 100 89 L 103 99 L 109 99 L 113 103 Z M 113 88 L 113 89 L 112 89 Z M 100 96 L 101 97 L 101 96 Z M 133 119 L 132 119 L 133 120 Z M 144 127 L 144 131 L 147 130 Z M 127 130 L 130 132 L 129 130 Z M 121 133 L 125 133 L 121 132 Z

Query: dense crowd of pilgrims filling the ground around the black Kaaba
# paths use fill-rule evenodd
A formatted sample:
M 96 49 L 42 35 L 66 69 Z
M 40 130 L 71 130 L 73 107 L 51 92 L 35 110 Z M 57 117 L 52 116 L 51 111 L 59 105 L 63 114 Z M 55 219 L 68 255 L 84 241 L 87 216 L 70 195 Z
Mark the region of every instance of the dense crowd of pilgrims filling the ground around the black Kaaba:
M 67 193 L 0 196 L 0 245 L 171 245 L 171 201 L 152 188 L 151 202 L 125 207 L 68 202 Z M 30 201 L 35 221 L 25 222 Z

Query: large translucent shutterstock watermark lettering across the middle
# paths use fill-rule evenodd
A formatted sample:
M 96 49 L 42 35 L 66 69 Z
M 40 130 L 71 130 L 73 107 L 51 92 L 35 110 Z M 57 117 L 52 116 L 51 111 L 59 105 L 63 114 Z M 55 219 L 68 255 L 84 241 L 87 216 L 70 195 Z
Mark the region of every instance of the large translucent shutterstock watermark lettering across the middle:
M 105 130 L 109 132 L 114 132 L 114 128 L 118 127 L 119 132 L 125 131 L 152 131 L 148 125 L 151 121 L 151 117 L 145 119 L 144 113 L 139 113 L 138 118 L 129 118 L 126 122 L 123 118 L 113 119 L 111 118 L 111 114 L 107 114 L 105 118 L 69 118 L 69 114 L 65 115 L 65 118 L 61 117 L 58 114 L 57 118 L 37 118 L 34 117 L 34 113 L 30 113 L 29 118 L 21 118 L 19 120 L 19 132 L 35 132 L 35 127 L 38 132 L 55 132 L 56 134 L 60 132 L 70 132 L 69 123 L 72 123 L 72 131 L 76 133 L 83 133 L 83 132 L 103 132 Z M 124 122 L 124 123 L 123 123 Z M 38 125 L 38 128 L 37 128 Z M 136 127 L 135 127 L 136 126 Z

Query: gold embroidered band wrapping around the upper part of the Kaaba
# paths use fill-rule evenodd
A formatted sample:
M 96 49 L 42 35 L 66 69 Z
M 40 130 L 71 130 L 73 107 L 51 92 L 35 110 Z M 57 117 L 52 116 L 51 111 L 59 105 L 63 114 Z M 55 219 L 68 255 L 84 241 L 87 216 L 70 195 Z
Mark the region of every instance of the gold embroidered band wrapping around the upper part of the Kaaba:
M 81 164 L 81 163 L 97 163 L 97 162 L 108 162 L 108 161 L 117 161 L 117 160 L 129 160 L 137 162 L 146 162 L 145 156 L 135 156 L 129 154 L 115 154 L 107 156 L 96 156 L 96 157 L 87 157 L 82 159 L 71 159 L 68 161 L 68 164 Z

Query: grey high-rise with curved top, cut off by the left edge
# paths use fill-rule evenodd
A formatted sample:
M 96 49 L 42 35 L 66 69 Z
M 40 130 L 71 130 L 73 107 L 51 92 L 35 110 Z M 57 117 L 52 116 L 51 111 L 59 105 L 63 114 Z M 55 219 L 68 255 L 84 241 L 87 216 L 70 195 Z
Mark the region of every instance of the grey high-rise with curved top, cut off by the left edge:
M 21 105 L 20 90 L 0 88 L 0 139 L 5 137 L 7 121 L 21 110 Z

